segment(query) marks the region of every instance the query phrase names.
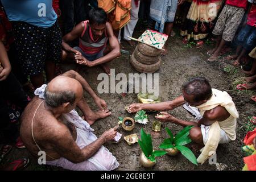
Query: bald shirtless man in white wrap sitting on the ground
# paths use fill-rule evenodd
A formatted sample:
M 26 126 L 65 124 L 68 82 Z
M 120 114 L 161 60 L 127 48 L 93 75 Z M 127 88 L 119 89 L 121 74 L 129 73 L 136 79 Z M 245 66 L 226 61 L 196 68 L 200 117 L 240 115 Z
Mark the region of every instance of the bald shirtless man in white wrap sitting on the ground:
M 39 151 L 45 152 L 48 165 L 70 170 L 113 170 L 119 163 L 102 145 L 114 139 L 118 126 L 99 138 L 92 133 L 90 125 L 111 113 L 93 113 L 82 96 L 83 88 L 98 106 L 106 107 L 84 78 L 75 71 L 65 72 L 35 90 L 36 96 L 22 115 L 20 137 L 32 155 L 39 157 Z M 94 118 L 84 121 L 74 110 L 76 106 L 85 118 L 92 113 Z

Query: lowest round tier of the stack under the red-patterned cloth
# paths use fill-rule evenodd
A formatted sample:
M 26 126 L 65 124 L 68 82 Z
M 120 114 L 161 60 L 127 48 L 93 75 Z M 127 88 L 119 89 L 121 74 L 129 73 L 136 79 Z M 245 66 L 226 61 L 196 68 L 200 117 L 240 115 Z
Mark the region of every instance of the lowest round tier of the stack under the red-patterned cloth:
M 139 61 L 137 61 L 135 59 L 134 54 L 133 54 L 133 55 L 131 55 L 130 63 L 134 67 L 134 69 L 136 69 L 140 73 L 154 73 L 154 72 L 158 71 L 158 69 L 160 68 L 160 65 L 161 65 L 160 60 L 161 59 L 159 57 L 158 62 L 156 62 L 154 64 L 142 64 L 142 63 L 139 63 Z

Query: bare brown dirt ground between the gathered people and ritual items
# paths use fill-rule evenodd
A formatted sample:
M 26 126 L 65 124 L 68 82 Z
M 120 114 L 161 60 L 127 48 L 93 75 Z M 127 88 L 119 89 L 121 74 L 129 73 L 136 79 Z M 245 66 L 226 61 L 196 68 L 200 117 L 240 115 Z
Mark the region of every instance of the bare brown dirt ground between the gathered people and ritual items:
M 134 38 L 138 38 L 144 30 L 135 30 Z M 129 47 L 126 42 L 123 43 L 124 49 L 133 52 L 132 47 Z M 232 82 L 237 79 L 237 77 L 245 77 L 245 75 L 240 71 L 241 69 L 235 69 L 236 73 L 228 74 L 224 71 L 224 68 L 229 67 L 231 62 L 225 61 L 224 58 L 220 59 L 214 63 L 207 62 L 207 50 L 211 46 L 204 46 L 203 48 L 197 49 L 187 48 L 181 42 L 179 36 L 172 37 L 168 44 L 168 55 L 162 56 L 162 64 L 159 73 L 159 95 L 162 101 L 172 100 L 181 94 L 181 85 L 183 82 L 187 81 L 188 78 L 195 76 L 204 76 L 212 85 L 213 88 L 220 90 L 228 90 L 230 96 L 233 97 L 234 103 L 237 106 L 237 110 L 240 113 L 240 118 L 238 119 L 237 126 L 237 139 L 229 144 L 220 144 L 217 149 L 217 164 L 210 165 L 206 162 L 203 165 L 195 166 L 190 163 L 183 155 L 179 154 L 175 157 L 164 155 L 157 158 L 157 163 L 153 168 L 143 168 L 139 164 L 139 155 L 141 149 L 138 143 L 129 146 L 125 140 L 122 138 L 121 142 L 118 144 L 106 143 L 110 152 L 117 158 L 120 166 L 117 170 L 241 170 L 243 167 L 243 153 L 241 151 L 242 139 L 245 137 L 245 131 L 239 130 L 241 126 L 245 125 L 248 121 L 247 117 L 255 115 L 255 103 L 250 100 L 252 92 L 237 92 L 232 86 Z M 118 59 L 115 59 L 110 63 L 111 68 L 115 68 L 115 74 L 117 73 L 135 73 L 136 71 L 131 67 L 129 63 L 129 55 L 123 54 Z M 73 66 L 65 66 L 65 69 L 73 68 Z M 100 68 L 90 68 L 82 69 L 81 75 L 86 78 L 89 84 L 94 90 L 97 90 L 97 85 L 100 81 L 97 80 L 97 76 L 101 73 Z M 255 94 L 255 92 L 254 92 Z M 105 130 L 113 127 L 118 122 L 118 117 L 134 117 L 134 114 L 129 114 L 124 110 L 124 107 L 130 105 L 131 103 L 138 102 L 136 94 L 127 94 L 126 97 L 122 97 L 121 94 L 99 94 L 99 96 L 106 101 L 108 108 L 112 110 L 112 115 L 105 119 L 100 119 L 92 128 L 95 130 L 95 134 L 99 136 Z M 97 110 L 97 106 L 94 104 L 92 98 L 85 94 L 86 100 L 92 109 Z M 184 120 L 193 120 L 193 117 L 183 109 L 183 107 L 176 108 L 169 112 L 177 118 Z M 80 113 L 81 114 L 81 113 Z M 123 136 L 137 133 L 140 137 L 139 131 L 141 128 L 147 133 L 152 133 L 152 122 L 154 121 L 155 114 L 149 115 L 149 122 L 147 125 L 141 125 L 139 123 L 135 124 L 133 131 L 126 132 L 121 128 L 118 132 Z M 159 137 L 153 138 L 153 146 L 157 149 L 157 146 L 167 138 L 166 131 L 164 127 L 169 127 L 171 131 L 176 134 L 182 129 L 180 126 L 176 126 L 172 123 L 163 123 L 162 129 L 160 131 Z M 191 148 L 191 144 L 188 144 Z M 199 156 L 199 152 L 193 151 L 194 154 Z M 32 158 L 28 151 L 25 150 L 13 150 L 7 156 L 3 165 L 11 162 L 14 159 L 22 158 L 24 156 L 29 156 L 32 159 L 30 166 L 26 170 L 61 170 L 61 168 L 49 167 L 49 166 L 39 166 L 35 159 Z

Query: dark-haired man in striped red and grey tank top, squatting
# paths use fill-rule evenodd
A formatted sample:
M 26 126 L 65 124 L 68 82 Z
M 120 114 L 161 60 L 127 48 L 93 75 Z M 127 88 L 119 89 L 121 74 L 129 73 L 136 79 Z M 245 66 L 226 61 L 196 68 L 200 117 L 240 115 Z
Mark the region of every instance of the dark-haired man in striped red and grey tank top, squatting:
M 89 20 L 77 24 L 71 32 L 63 37 L 63 60 L 76 61 L 76 63 L 87 67 L 101 65 L 104 71 L 110 75 L 110 68 L 106 63 L 120 56 L 120 48 L 112 26 L 106 20 L 107 15 L 103 9 L 90 10 Z M 76 38 L 79 38 L 79 47 L 70 47 L 67 42 Z M 104 56 L 108 40 L 112 50 Z

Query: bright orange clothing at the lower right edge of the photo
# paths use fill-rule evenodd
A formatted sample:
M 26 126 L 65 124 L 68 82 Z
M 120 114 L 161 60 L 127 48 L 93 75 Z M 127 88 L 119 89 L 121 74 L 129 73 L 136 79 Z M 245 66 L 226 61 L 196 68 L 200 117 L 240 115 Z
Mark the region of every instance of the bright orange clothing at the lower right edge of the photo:
M 250 145 L 253 143 L 255 137 L 256 129 L 254 129 L 253 131 L 249 131 L 246 134 L 245 139 L 243 139 L 243 143 L 245 143 L 246 145 Z M 243 158 L 243 161 L 247 165 L 249 171 L 256 171 L 256 154 L 252 154 L 250 156 Z

